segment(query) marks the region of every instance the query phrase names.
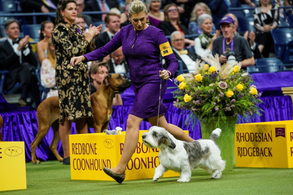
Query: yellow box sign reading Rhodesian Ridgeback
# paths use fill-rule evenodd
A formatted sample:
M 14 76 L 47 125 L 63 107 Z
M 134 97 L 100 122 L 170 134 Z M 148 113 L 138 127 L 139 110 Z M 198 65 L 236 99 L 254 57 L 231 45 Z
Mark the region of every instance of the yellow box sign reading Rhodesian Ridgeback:
M 293 167 L 293 121 L 236 124 L 236 167 Z

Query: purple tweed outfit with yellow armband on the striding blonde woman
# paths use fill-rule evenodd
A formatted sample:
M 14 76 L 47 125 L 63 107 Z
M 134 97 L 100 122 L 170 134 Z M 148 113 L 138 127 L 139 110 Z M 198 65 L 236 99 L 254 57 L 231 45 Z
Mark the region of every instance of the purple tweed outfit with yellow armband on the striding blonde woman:
M 146 119 L 158 115 L 160 81 L 159 71 L 163 70 L 160 52 L 168 64 L 168 71 L 175 74 L 178 61 L 173 54 L 168 39 L 162 30 L 149 25 L 145 30 L 136 31 L 133 25 L 121 30 L 104 47 L 84 54 L 87 61 L 100 60 L 122 46 L 122 51 L 129 66 L 130 80 L 133 83 L 135 100 L 129 114 Z M 163 96 L 167 81 L 162 80 L 160 113 L 167 112 Z

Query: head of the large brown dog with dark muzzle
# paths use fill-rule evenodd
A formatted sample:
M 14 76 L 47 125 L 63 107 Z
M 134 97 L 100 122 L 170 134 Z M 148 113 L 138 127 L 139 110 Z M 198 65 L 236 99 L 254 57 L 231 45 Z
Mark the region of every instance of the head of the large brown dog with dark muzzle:
M 124 78 L 121 74 L 108 74 L 104 80 L 106 86 L 110 86 L 115 91 L 122 93 L 125 89 L 129 88 L 131 81 L 127 78 Z

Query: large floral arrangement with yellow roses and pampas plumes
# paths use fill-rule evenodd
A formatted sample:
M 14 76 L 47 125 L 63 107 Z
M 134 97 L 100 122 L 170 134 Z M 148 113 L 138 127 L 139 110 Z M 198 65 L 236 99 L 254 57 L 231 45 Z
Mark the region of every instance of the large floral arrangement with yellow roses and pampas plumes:
M 173 91 L 174 106 L 189 110 L 185 124 L 197 117 L 220 117 L 226 121 L 226 116 L 250 117 L 261 116 L 257 105 L 262 103 L 253 79 L 248 72 L 241 70 L 241 63 L 219 63 L 219 56 L 202 57 L 204 61 L 196 61 L 193 73 L 181 74 L 176 79 L 180 82 Z M 238 117 L 238 120 L 241 120 Z M 218 121 L 219 123 L 219 121 Z

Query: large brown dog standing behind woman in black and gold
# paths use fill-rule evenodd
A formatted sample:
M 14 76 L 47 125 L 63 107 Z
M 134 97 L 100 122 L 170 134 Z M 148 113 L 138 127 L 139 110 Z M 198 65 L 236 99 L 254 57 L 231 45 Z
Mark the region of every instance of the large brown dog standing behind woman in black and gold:
M 129 88 L 131 81 L 123 78 L 120 74 L 109 74 L 106 76 L 100 88 L 91 95 L 91 107 L 93 111 L 93 119 L 87 119 L 88 127 L 94 127 L 95 133 L 100 133 L 102 129 L 108 129 L 110 117 L 113 112 L 112 102 L 115 91 L 123 92 Z M 54 130 L 54 138 L 50 145 L 50 150 L 56 156 L 57 160 L 62 162 L 63 158 L 57 152 L 57 143 L 60 140 L 59 136 L 59 98 L 47 98 L 37 109 L 38 117 L 38 133 L 34 141 L 30 144 L 32 162 L 34 164 L 40 163 L 35 155 L 35 150 L 48 133 L 50 126 Z M 92 125 L 93 124 L 93 125 Z

